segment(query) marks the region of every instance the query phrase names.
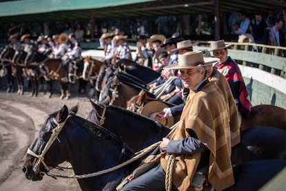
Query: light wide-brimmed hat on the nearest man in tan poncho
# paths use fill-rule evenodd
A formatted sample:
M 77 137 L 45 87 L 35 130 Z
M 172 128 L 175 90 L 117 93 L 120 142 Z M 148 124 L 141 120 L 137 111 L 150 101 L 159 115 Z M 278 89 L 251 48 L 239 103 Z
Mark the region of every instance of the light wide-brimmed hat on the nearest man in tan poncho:
M 164 67 L 164 69 L 189 69 L 199 66 L 207 66 L 218 62 L 216 57 L 204 57 L 202 52 L 187 52 L 178 55 L 178 63 Z

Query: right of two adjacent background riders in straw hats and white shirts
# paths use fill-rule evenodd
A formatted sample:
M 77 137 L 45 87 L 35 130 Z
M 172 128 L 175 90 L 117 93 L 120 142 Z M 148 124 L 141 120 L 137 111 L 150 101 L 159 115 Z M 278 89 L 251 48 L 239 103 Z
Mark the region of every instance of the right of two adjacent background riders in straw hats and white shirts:
M 113 37 L 113 41 L 117 44 L 115 48 L 116 60 L 121 60 L 121 59 L 132 60 L 130 48 L 125 42 L 125 39 L 127 37 L 128 37 L 127 35 L 116 35 Z

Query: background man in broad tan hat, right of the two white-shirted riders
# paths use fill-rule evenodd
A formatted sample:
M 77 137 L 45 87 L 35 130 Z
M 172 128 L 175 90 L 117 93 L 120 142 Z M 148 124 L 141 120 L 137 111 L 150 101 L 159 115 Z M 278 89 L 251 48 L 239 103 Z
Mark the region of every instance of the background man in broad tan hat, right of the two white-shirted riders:
M 159 34 L 152 35 L 149 39 L 147 39 L 150 48 L 153 49 L 151 68 L 154 71 L 160 68 L 160 62 L 156 59 L 155 52 L 158 51 L 159 48 L 161 48 L 165 39 L 166 37 L 164 35 L 159 35 Z

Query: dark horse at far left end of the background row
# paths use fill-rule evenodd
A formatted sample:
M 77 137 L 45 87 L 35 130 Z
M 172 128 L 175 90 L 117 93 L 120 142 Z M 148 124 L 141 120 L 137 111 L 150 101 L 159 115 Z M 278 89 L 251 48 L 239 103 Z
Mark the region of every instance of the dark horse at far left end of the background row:
M 14 91 L 14 76 L 12 75 L 12 59 L 15 55 L 15 50 L 6 46 L 1 51 L 1 65 L 3 66 L 3 75 L 7 79 L 7 89 L 6 92 L 10 93 Z

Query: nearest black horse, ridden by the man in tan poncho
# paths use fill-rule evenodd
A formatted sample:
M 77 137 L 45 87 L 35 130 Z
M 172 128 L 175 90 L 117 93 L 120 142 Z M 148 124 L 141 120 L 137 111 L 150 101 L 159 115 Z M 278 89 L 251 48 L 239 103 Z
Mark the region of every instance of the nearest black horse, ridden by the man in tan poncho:
M 133 161 L 118 167 L 133 156 L 133 151 L 120 138 L 70 114 L 64 106 L 46 118 L 37 138 L 28 147 L 22 171 L 26 179 L 40 181 L 53 167 L 68 161 L 82 190 L 115 190 L 140 165 L 140 161 Z M 286 161 L 271 160 L 233 167 L 235 184 L 227 190 L 242 190 L 246 186 L 258 190 L 285 166 Z

